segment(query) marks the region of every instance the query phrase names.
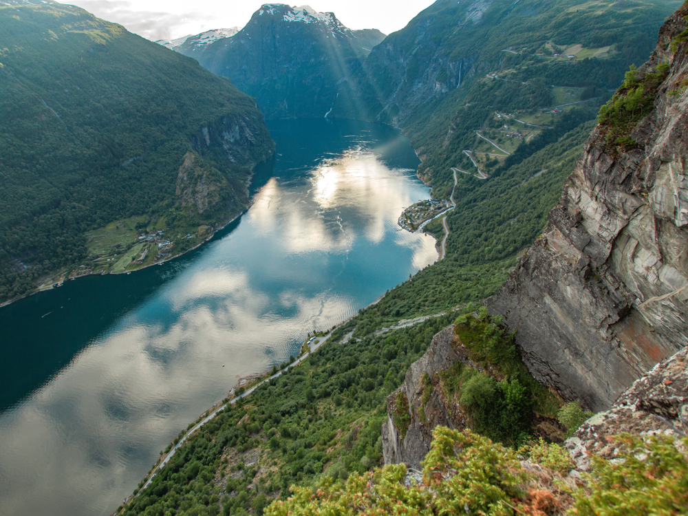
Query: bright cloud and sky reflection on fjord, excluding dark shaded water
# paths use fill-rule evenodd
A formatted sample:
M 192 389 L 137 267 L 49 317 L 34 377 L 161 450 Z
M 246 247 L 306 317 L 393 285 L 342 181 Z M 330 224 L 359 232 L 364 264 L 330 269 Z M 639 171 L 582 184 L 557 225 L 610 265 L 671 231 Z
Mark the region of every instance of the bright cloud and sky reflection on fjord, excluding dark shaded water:
M 275 173 L 232 233 L 166 264 L 173 278 L 0 415 L 3 515 L 111 513 L 239 376 L 437 258 L 431 237 L 396 225 L 427 188 L 360 143 Z

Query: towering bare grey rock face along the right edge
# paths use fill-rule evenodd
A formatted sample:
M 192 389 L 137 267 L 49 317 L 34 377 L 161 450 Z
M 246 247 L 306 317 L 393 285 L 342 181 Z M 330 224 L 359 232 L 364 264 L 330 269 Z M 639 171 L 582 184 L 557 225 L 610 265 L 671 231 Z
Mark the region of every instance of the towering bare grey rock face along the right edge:
M 662 78 L 652 112 L 626 140 L 596 127 L 543 235 L 488 300 L 533 375 L 596 411 L 688 345 L 686 14 L 636 75 Z

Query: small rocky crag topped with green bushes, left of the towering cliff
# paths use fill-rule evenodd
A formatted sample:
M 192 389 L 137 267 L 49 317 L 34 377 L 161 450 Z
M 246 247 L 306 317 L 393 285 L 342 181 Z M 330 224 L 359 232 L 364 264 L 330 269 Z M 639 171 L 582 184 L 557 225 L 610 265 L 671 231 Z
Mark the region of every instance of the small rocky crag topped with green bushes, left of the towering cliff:
M 382 429 L 385 464 L 403 462 L 420 469 L 420 462 L 430 449 L 433 429 L 438 425 L 485 431 L 510 442 L 522 431 L 533 431 L 548 440 L 563 440 L 563 427 L 540 413 L 544 404 L 538 401 L 535 407 L 529 402 L 509 405 L 506 399 L 509 396 L 499 395 L 499 391 L 507 390 L 510 385 L 517 390 L 524 389 L 521 392 L 527 393 L 526 398 L 544 400 L 549 396 L 541 386 L 536 393 L 533 379 L 524 378 L 528 373 L 517 360 L 507 363 L 508 359 L 497 359 L 498 355 L 504 358 L 515 353 L 510 338 L 499 337 L 498 327 L 491 324 L 497 321 L 480 321 L 475 319 L 477 316 L 462 316 L 458 325 L 436 334 L 427 352 L 409 367 L 405 382 L 387 397 L 388 417 Z M 484 330 L 487 330 L 484 335 L 489 336 L 482 343 L 489 341 L 491 350 L 496 351 L 490 356 L 484 354 L 485 348 L 481 349 L 480 340 L 476 340 L 476 334 Z M 480 387 L 480 394 L 475 394 L 476 385 L 486 388 Z M 486 410 L 476 407 L 472 401 L 475 396 L 490 407 Z M 505 405 L 511 408 L 504 410 Z M 491 416 L 486 416 L 486 412 Z M 517 419 L 513 418 L 515 412 L 519 413 Z M 511 423 L 504 425 L 504 420 Z M 493 427 L 486 429 L 486 421 Z M 515 427 L 518 429 L 514 430 Z

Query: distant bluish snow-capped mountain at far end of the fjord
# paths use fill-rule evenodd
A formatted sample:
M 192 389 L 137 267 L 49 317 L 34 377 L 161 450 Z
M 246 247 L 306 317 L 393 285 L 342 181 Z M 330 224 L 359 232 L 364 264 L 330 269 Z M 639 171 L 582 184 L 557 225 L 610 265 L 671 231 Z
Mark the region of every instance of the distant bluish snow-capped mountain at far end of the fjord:
M 266 4 L 237 34 L 175 50 L 255 96 L 266 118 L 308 118 L 330 111 L 338 84 L 358 73 L 383 37 L 350 30 L 332 12 Z

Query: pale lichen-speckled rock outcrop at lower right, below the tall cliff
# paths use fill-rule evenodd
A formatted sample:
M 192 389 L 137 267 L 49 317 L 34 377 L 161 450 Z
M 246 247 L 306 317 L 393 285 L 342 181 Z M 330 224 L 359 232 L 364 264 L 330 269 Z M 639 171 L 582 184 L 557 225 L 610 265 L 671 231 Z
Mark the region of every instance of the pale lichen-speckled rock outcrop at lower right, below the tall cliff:
M 616 457 L 619 444 L 612 436 L 684 437 L 688 433 L 688 350 L 658 363 L 636 380 L 612 408 L 596 414 L 566 440 L 580 471 L 590 469 L 590 453 Z

